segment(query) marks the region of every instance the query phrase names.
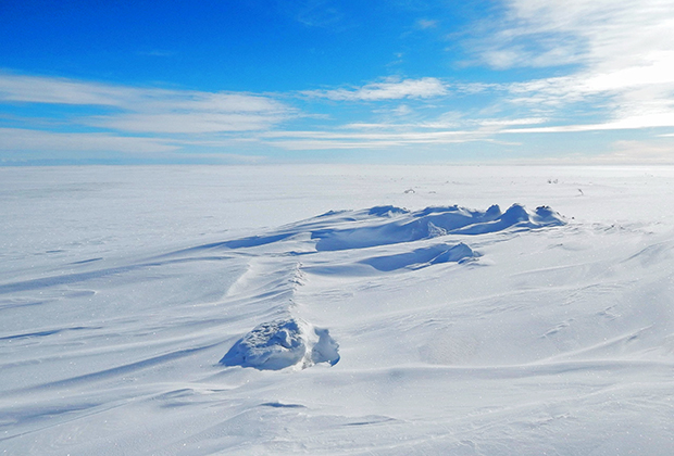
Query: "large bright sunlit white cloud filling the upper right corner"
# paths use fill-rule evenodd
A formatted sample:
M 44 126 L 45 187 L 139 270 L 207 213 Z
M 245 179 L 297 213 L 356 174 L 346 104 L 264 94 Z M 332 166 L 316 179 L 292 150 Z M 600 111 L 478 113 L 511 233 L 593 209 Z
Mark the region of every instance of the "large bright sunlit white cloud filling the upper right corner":
M 509 15 L 475 43 L 495 68 L 573 64 L 565 76 L 510 85 L 510 103 L 562 115 L 572 104 L 602 123 L 524 131 L 674 126 L 674 2 L 509 0 Z

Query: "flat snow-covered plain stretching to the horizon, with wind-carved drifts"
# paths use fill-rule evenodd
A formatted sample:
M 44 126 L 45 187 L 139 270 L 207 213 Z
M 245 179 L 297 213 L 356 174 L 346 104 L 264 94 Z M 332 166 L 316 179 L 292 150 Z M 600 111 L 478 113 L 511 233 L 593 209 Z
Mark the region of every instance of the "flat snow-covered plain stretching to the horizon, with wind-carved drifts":
M 674 167 L 0 168 L 2 455 L 671 455 Z

